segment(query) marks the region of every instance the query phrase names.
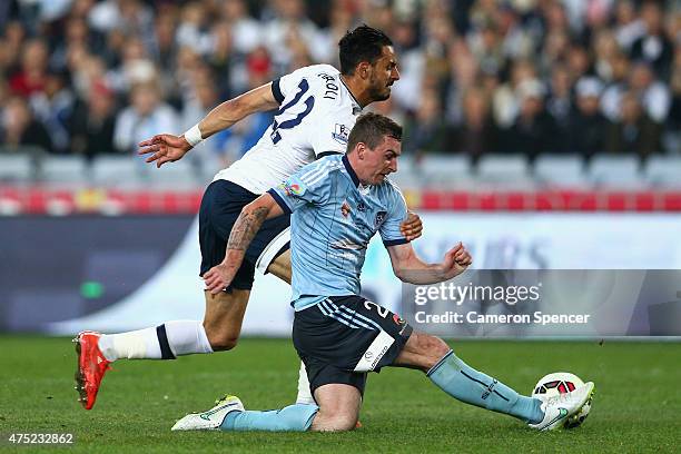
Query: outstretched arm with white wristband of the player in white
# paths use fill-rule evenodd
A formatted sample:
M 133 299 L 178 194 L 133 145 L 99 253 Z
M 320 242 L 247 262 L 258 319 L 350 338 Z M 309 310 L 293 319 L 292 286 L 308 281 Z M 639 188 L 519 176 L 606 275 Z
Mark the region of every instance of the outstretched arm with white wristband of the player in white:
M 220 103 L 181 136 L 159 134 L 139 142 L 138 152 L 149 155 L 147 162 L 156 162 L 156 167 L 160 167 L 181 159 L 200 140 L 231 127 L 250 114 L 272 110 L 278 106 L 269 82 Z M 194 137 L 186 137 L 188 135 Z

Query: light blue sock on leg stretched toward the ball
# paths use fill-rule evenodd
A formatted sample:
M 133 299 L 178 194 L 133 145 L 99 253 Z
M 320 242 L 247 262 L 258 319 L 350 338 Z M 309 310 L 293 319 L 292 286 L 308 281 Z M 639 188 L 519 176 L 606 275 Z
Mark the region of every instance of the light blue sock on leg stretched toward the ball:
M 442 391 L 467 404 L 527 423 L 539 423 L 544 417 L 540 399 L 521 396 L 495 378 L 475 371 L 452 351 L 428 371 L 427 376 Z

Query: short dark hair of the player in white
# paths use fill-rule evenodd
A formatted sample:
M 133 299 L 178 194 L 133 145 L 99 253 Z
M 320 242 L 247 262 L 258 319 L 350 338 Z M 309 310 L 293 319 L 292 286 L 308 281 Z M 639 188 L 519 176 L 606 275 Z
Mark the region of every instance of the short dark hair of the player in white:
M 393 41 L 383 31 L 366 23 L 345 33 L 338 41 L 340 73 L 352 76 L 362 61 L 374 65 L 383 55 L 384 46 L 393 46 Z

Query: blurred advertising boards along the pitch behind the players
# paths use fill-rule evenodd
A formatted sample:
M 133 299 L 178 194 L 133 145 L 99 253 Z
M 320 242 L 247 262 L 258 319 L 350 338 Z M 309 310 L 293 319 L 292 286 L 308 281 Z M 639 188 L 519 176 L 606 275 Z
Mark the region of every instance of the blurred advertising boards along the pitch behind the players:
M 146 205 L 156 206 L 150 201 Z M 680 213 L 422 211 L 422 217 L 424 236 L 414 247 L 425 260 L 440 261 L 443 253 L 460 240 L 471 250 L 474 268 L 455 283 L 465 287 L 478 270 L 502 274 L 517 269 L 582 270 L 586 280 L 573 280 L 572 294 L 546 299 L 543 306 L 537 303 L 536 310 L 566 316 L 591 314 L 594 316 L 591 320 L 595 319 L 593 324 L 568 320 L 543 325 L 541 329 L 507 324 L 503 329 L 494 329 L 492 325 L 499 320 L 491 320 L 492 325 L 482 328 L 480 324 L 440 323 L 431 327 L 427 323 L 420 324 L 422 328 L 457 337 L 675 333 L 664 323 L 681 319 L 681 303 L 677 302 L 681 278 L 673 273 L 649 275 L 641 269 L 681 269 Z M 3 239 L 0 243 L 3 264 L 0 268 L 0 330 L 72 334 L 90 328 L 118 332 L 169 319 L 200 319 L 204 298 L 198 277 L 197 237 L 197 224 L 189 214 L 0 216 L 0 238 Z M 27 269 L 31 273 L 26 273 Z M 595 280 L 591 280 L 591 276 Z M 574 302 L 570 295 L 575 290 L 591 292 L 584 282 L 602 283 L 593 287 L 600 293 L 594 294 L 594 299 L 571 308 Z M 514 284 L 506 282 L 504 285 Z M 409 322 L 418 323 L 418 310 L 408 300 L 413 295 L 409 296 L 394 277 L 388 256 L 377 239 L 367 250 L 363 294 L 404 314 Z M 290 295 L 287 285 L 270 275 L 258 275 L 244 334 L 288 336 L 293 312 L 287 295 Z M 609 305 L 600 304 L 604 300 L 609 300 Z M 553 310 L 546 310 L 549 303 Z M 433 310 L 447 310 L 438 304 Z M 504 305 L 483 306 L 485 314 L 506 314 L 499 312 L 506 308 Z M 478 299 L 471 299 L 463 307 L 453 305 L 450 309 L 467 314 L 480 313 L 481 307 Z M 535 312 L 532 302 L 522 307 L 523 314 Z M 601 319 L 595 317 L 596 313 Z

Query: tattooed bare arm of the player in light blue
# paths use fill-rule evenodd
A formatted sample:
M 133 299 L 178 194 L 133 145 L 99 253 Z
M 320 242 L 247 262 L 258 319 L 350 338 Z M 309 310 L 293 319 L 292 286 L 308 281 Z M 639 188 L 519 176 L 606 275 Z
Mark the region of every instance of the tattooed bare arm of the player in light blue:
M 246 249 L 248 249 L 250 241 L 253 241 L 265 219 L 283 214 L 282 207 L 267 193 L 246 205 L 229 234 L 225 259 L 203 276 L 206 289 L 217 295 L 228 287 L 244 261 Z

